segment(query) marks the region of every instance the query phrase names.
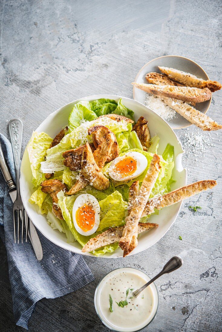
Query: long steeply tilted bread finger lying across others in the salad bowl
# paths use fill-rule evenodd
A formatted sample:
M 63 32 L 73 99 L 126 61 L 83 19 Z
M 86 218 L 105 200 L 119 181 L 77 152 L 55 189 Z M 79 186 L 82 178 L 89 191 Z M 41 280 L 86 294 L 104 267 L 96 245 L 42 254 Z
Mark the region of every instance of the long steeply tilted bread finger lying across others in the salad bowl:
M 150 196 L 151 190 L 156 182 L 157 176 L 161 169 L 160 158 L 154 154 L 149 169 L 143 179 L 139 194 L 131 208 L 129 215 L 126 217 L 126 224 L 119 241 L 122 250 L 128 251 L 133 235 L 137 238 L 138 222 L 145 208 L 146 202 Z M 137 241 L 134 245 L 137 245 Z

